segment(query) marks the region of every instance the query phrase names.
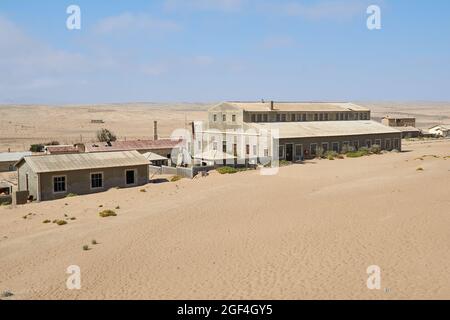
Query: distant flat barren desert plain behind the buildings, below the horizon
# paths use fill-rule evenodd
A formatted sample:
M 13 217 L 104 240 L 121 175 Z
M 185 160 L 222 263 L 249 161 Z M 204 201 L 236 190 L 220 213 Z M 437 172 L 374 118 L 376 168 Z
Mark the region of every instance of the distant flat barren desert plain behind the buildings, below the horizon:
M 375 120 L 385 115 L 413 116 L 419 128 L 450 123 L 450 103 L 358 103 L 372 110 Z M 0 152 L 28 150 L 32 143 L 58 141 L 61 144 L 95 141 L 101 128 L 112 130 L 119 139 L 153 137 L 153 121 L 158 121 L 161 137 L 174 129 L 189 128 L 193 120 L 205 120 L 214 103 L 132 103 L 92 106 L 0 106 Z M 103 120 L 105 123 L 91 123 Z

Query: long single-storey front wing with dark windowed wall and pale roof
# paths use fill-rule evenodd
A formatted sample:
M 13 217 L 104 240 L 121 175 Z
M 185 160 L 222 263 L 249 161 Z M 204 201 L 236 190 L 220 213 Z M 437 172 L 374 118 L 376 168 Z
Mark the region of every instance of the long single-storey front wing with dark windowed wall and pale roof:
M 251 126 L 258 132 L 267 131 L 271 136 L 278 136 L 278 156 L 288 161 L 315 156 L 318 148 L 324 152 L 341 152 L 345 147 L 357 150 L 378 145 L 383 150 L 401 151 L 402 133 L 371 120 L 253 123 Z

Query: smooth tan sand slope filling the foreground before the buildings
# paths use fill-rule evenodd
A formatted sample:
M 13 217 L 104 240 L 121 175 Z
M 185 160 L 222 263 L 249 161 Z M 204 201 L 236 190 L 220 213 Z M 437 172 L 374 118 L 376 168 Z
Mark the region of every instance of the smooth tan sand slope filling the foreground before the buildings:
M 215 173 L 145 193 L 0 208 L 0 291 L 16 299 L 450 299 L 450 141 L 405 149 L 273 177 Z M 439 158 L 415 160 L 432 154 Z M 121 209 L 100 218 L 99 205 Z M 42 223 L 64 214 L 77 220 Z M 92 239 L 100 244 L 83 251 Z M 82 270 L 80 291 L 65 287 L 72 264 Z M 380 291 L 366 287 L 373 264 L 382 268 Z

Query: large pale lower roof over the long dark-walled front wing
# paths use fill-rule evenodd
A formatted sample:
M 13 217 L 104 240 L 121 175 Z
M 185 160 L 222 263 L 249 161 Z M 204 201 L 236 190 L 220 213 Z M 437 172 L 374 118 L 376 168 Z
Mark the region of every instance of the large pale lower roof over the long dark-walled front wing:
M 375 121 L 314 121 L 252 123 L 257 130 L 279 130 L 280 138 L 337 137 L 381 133 L 400 133 Z

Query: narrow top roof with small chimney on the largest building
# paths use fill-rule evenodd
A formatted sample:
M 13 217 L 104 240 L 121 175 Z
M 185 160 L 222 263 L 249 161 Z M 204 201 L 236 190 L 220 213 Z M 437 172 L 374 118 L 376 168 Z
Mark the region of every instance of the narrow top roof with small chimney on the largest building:
M 225 102 L 238 109 L 243 109 L 249 112 L 271 111 L 270 101 L 265 102 Z M 277 102 L 273 103 L 273 111 L 286 112 L 324 112 L 324 111 L 370 111 L 368 108 L 358 106 L 349 102 Z

